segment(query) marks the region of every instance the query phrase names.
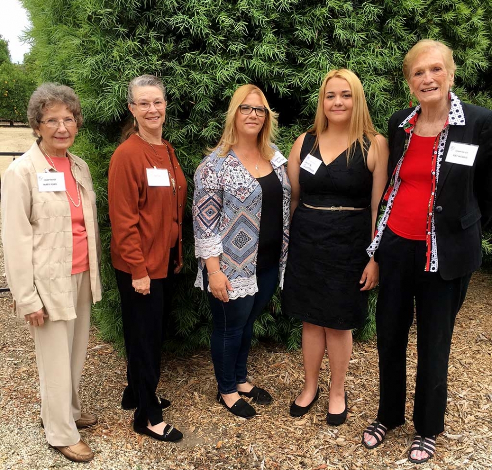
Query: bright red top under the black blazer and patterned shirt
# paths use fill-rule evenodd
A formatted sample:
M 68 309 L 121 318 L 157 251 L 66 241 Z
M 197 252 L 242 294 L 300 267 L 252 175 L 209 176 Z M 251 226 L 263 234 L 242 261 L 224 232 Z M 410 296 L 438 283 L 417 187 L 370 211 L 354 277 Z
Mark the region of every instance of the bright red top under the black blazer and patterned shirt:
M 403 159 L 400 187 L 388 219 L 388 227 L 400 237 L 426 239 L 435 140 L 413 133 Z

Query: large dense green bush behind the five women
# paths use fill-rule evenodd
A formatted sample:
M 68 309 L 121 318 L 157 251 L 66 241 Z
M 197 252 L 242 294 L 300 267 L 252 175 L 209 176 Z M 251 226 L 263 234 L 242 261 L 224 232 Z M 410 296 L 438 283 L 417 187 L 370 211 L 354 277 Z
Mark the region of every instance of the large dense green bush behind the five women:
M 109 258 L 107 168 L 122 122 L 130 79 L 156 74 L 168 86 L 165 137 L 189 179 L 207 146 L 220 136 L 234 89 L 258 84 L 280 113 L 278 144 L 288 154 L 312 122 L 327 71 L 353 69 L 364 85 L 376 127 L 408 103 L 401 73 L 405 52 L 421 38 L 455 51 L 455 90 L 492 107 L 492 4 L 478 0 L 23 0 L 30 12 L 33 54 L 43 80 L 75 88 L 86 124 L 74 151 L 91 167 L 99 204 L 104 300 L 94 311 L 101 334 L 121 344 L 118 295 Z M 191 204 L 189 204 L 189 207 Z M 196 264 L 190 230 L 186 267 L 168 346 L 209 341 L 205 296 L 192 287 Z M 372 304 L 371 304 L 372 305 Z M 367 334 L 371 333 L 368 327 Z M 280 313 L 275 297 L 257 323 L 257 337 L 298 345 L 299 324 Z M 362 334 L 362 333 L 361 333 Z M 364 336 L 366 334 L 364 333 Z

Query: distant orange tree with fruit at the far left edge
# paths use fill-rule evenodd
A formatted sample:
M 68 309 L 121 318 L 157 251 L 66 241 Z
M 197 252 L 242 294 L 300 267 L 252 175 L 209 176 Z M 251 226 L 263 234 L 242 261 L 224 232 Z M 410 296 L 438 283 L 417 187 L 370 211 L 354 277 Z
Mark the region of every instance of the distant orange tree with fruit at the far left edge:
M 4 62 L 0 65 L 0 118 L 27 122 L 27 103 L 36 82 L 23 65 Z

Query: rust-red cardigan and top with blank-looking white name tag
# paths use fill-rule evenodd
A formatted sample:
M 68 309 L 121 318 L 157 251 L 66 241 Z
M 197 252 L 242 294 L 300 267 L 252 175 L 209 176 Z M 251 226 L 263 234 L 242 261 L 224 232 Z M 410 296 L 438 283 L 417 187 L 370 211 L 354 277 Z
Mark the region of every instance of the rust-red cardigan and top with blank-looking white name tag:
M 182 264 L 186 179 L 169 142 L 153 147 L 157 155 L 148 142 L 131 135 L 115 150 L 108 174 L 111 260 L 132 279 L 161 279 L 169 262 Z M 168 171 L 170 186 L 149 186 L 147 168 L 154 167 Z M 169 260 L 175 245 L 177 259 Z

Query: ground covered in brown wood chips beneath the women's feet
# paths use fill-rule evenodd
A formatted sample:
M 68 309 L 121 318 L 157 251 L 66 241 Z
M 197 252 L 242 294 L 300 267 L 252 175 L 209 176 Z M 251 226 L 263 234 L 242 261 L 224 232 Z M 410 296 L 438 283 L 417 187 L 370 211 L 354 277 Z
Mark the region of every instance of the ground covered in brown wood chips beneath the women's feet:
M 0 129 L 1 130 L 1 129 Z M 0 253 L 0 273 L 3 256 Z M 0 468 L 5 470 L 73 469 L 50 448 L 39 425 L 39 382 L 33 342 L 22 321 L 11 313 L 12 298 L 0 296 Z M 91 329 L 80 387 L 84 410 L 99 417 L 82 430 L 95 451 L 87 470 L 482 470 L 492 468 L 492 274 L 473 276 L 458 315 L 451 348 L 445 431 L 436 456 L 414 465 L 407 459 L 414 433 L 411 423 L 416 366 L 415 328 L 408 344 L 407 422 L 390 431 L 384 443 L 368 451 L 361 433 L 375 417 L 378 398 L 375 340 L 356 343 L 347 374 L 349 414 L 345 424 L 328 426 L 330 368 L 322 365 L 320 400 L 310 413 L 288 414 L 302 387 L 302 354 L 262 343 L 252 349 L 250 375 L 274 397 L 256 406 L 244 420 L 215 400 L 217 385 L 208 350 L 189 357 L 162 357 L 158 394 L 172 406 L 164 419 L 185 437 L 177 444 L 137 435 L 132 412 L 120 408 L 125 360 Z

